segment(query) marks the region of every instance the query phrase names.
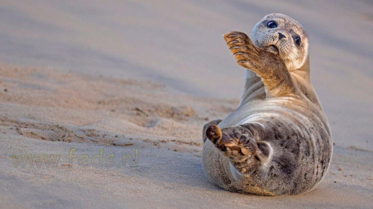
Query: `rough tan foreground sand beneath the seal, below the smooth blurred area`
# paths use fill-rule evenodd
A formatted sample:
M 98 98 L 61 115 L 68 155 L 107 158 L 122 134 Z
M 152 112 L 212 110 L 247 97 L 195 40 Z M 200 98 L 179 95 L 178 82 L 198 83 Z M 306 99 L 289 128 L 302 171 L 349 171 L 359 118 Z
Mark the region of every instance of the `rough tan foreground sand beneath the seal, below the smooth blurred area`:
M 369 208 L 372 152 L 335 146 L 317 189 L 261 197 L 223 191 L 201 167 L 201 127 L 237 100 L 193 97 L 163 85 L 53 70 L 0 68 L 0 195 L 5 208 Z M 4 91 L 6 89 L 6 91 Z M 85 167 L 73 154 L 115 154 L 115 167 Z M 117 167 L 122 154 L 137 167 Z M 60 154 L 58 164 L 14 164 L 11 155 Z M 96 161 L 97 162 L 97 161 Z M 105 165 L 109 163 L 104 160 Z M 85 164 L 85 163 L 82 163 Z M 18 166 L 15 166 L 18 165 Z

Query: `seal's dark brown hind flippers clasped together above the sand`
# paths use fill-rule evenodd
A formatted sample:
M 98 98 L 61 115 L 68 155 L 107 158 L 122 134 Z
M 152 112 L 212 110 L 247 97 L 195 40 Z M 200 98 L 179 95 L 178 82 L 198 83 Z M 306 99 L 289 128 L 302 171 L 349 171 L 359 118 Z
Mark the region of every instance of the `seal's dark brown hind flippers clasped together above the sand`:
M 264 136 L 264 128 L 258 123 L 222 130 L 216 125 L 210 125 L 206 129 L 206 136 L 232 162 L 243 162 L 252 157 L 261 164 L 270 160 L 272 150 L 267 142 L 260 141 Z

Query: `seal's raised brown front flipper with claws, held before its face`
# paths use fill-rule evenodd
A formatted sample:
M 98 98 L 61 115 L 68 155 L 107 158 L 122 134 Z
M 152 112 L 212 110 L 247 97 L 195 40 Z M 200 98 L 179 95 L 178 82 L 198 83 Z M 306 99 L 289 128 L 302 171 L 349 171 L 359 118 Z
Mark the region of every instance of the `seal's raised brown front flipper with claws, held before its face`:
M 257 48 L 242 32 L 229 32 L 224 35 L 224 39 L 237 63 L 261 77 L 267 97 L 297 94 L 297 87 L 278 55 Z

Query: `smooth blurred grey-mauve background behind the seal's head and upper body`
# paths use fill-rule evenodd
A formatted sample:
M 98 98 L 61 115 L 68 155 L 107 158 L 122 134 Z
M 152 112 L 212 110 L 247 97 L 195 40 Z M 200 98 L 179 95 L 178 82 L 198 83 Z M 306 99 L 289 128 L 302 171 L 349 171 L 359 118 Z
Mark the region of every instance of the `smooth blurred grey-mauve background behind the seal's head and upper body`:
M 372 11 L 370 0 L 2 0 L 0 62 L 238 100 L 245 70 L 222 35 L 283 13 L 308 33 L 311 79 L 336 145 L 373 151 Z

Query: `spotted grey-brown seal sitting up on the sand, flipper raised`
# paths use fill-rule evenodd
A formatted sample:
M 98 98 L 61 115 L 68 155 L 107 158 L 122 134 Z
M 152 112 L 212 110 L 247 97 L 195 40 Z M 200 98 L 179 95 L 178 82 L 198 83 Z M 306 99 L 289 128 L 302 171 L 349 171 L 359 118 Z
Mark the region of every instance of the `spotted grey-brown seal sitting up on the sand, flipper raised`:
M 203 127 L 202 164 L 208 179 L 240 193 L 277 196 L 312 190 L 327 172 L 333 147 L 310 81 L 305 30 L 291 17 L 270 14 L 250 37 L 242 32 L 223 37 L 247 71 L 238 108 Z

